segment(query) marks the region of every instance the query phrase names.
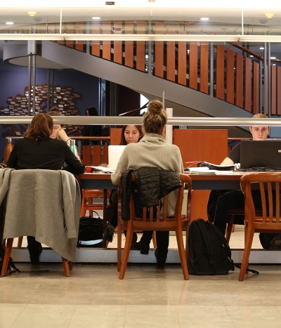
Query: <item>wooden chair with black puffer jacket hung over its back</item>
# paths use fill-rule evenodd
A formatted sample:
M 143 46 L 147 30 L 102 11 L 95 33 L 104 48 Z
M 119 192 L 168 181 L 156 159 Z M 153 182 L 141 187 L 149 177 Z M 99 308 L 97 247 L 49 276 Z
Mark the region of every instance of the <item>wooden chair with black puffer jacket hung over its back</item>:
M 134 177 L 133 177 L 134 178 Z M 129 221 L 122 220 L 121 217 L 121 195 L 122 185 L 119 181 L 118 188 L 118 240 L 117 240 L 117 269 L 119 270 L 119 279 L 123 279 L 126 271 L 126 266 L 129 259 L 129 253 L 131 249 L 131 242 L 133 238 L 133 231 L 135 230 L 155 230 L 155 231 L 175 231 L 176 240 L 178 243 L 178 253 L 181 259 L 181 267 L 183 269 L 183 277 L 188 280 L 188 265 L 187 258 L 185 256 L 185 249 L 183 244 L 183 228 L 186 229 L 188 222 L 190 221 L 190 202 L 191 202 L 191 179 L 189 176 L 181 174 L 181 189 L 178 190 L 178 197 L 176 201 L 175 216 L 173 218 L 167 217 L 167 204 L 168 195 L 162 199 L 162 209 L 160 213 L 160 206 L 157 206 L 156 218 L 153 218 L 153 208 L 150 208 L 150 217 L 147 217 L 147 208 L 143 209 L 143 216 L 137 217 L 135 215 L 135 208 L 133 204 L 133 197 L 130 200 L 131 219 Z M 188 205 L 187 216 L 181 214 L 181 208 L 183 204 L 183 190 L 185 183 L 188 186 Z M 160 202 L 159 202 L 160 204 Z M 122 230 L 127 230 L 126 241 L 124 247 L 124 254 L 122 257 Z

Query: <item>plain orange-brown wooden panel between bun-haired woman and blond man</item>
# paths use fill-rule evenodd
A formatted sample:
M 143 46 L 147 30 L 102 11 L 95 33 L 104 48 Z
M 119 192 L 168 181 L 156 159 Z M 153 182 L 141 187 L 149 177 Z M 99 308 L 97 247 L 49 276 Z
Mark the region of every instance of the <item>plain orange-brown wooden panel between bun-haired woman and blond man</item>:
M 185 162 L 207 161 L 220 164 L 228 155 L 227 130 L 175 129 L 174 142 L 181 150 L 183 166 Z M 191 218 L 207 219 L 209 190 L 192 191 Z

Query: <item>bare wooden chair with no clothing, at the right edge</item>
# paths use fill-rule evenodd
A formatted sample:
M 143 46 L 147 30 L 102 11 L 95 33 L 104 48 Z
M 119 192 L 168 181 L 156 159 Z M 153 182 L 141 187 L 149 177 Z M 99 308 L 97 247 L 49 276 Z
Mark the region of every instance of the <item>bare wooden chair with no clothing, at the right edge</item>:
M 280 183 L 281 173 L 251 173 L 240 180 L 245 197 L 245 247 L 239 281 L 249 263 L 254 232 L 281 232 L 280 218 Z M 258 190 L 261 196 L 261 210 L 256 210 L 251 191 Z

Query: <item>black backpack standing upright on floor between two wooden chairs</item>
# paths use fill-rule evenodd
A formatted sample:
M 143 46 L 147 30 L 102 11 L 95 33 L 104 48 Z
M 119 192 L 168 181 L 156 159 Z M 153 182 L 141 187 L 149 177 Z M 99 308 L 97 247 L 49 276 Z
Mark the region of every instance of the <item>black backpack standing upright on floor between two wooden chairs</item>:
M 215 225 L 202 218 L 190 223 L 188 272 L 191 275 L 227 275 L 234 270 L 226 238 Z

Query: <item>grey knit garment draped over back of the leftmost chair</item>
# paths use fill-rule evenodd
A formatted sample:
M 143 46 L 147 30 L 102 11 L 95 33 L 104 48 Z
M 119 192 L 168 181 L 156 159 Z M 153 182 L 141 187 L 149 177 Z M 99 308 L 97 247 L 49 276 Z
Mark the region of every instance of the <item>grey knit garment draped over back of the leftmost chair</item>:
M 4 239 L 34 236 L 74 261 L 81 197 L 72 173 L 4 169 L 0 181 L 0 201 L 6 194 Z

